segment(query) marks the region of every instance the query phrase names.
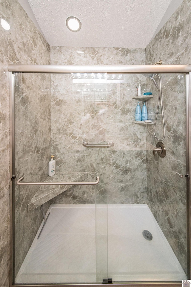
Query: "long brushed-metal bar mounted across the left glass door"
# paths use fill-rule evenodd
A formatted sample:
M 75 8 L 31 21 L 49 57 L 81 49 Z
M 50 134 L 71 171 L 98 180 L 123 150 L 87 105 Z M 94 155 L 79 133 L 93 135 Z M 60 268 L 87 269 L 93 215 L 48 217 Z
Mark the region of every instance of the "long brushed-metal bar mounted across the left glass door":
M 17 185 L 95 185 L 99 183 L 99 177 L 96 177 L 96 181 L 71 181 L 71 182 L 21 182 L 22 180 L 24 180 L 24 177 L 21 176 L 16 184 Z

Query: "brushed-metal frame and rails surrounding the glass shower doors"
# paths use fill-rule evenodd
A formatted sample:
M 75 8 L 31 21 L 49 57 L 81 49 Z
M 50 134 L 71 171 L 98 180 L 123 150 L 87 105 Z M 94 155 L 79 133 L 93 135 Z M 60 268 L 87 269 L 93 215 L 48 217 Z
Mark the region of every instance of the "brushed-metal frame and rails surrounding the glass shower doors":
M 76 73 L 76 72 L 101 72 L 121 74 L 144 74 L 144 73 L 186 73 L 186 160 L 187 174 L 191 174 L 191 65 L 8 65 L 10 78 L 10 287 L 99 287 L 102 283 L 93 284 L 13 284 L 14 278 L 14 243 L 15 243 L 15 72 L 22 73 Z M 106 80 L 107 81 L 107 80 Z M 190 85 L 189 85 L 190 83 Z M 187 266 L 188 278 L 191 276 L 191 197 L 190 180 L 187 177 Z M 188 279 L 188 280 L 189 280 Z M 181 281 L 141 281 L 107 284 L 107 287 L 181 287 Z

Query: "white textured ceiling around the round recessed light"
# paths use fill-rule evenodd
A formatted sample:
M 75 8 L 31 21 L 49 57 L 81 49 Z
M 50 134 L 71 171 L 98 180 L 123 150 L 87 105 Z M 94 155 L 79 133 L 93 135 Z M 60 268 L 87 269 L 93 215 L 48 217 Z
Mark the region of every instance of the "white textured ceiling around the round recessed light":
M 28 0 L 50 46 L 145 48 L 172 0 Z M 81 30 L 66 27 L 77 17 Z

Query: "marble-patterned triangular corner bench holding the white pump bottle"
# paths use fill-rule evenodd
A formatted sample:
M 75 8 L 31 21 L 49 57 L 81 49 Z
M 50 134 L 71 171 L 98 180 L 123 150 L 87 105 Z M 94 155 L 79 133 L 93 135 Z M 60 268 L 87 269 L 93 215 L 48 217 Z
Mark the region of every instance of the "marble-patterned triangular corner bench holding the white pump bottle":
M 56 172 L 53 176 L 47 176 L 44 182 L 53 181 L 83 181 L 88 177 L 88 172 Z M 37 208 L 39 205 L 49 201 L 55 196 L 66 191 L 74 185 L 41 185 L 28 204 L 28 212 Z

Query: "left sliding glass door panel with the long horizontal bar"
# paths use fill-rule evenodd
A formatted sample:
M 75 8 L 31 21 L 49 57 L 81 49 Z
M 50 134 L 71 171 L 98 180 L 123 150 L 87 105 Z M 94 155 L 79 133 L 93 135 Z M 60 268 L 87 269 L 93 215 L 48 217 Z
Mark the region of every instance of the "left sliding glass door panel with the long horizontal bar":
M 107 99 L 106 80 L 94 83 L 94 77 L 15 75 L 17 179 L 95 182 L 99 176 L 102 186 L 16 186 L 15 283 L 95 283 L 107 278 L 107 148 L 83 146 L 107 140 L 106 132 L 100 136 L 106 114 L 103 118 L 99 105 Z M 51 154 L 56 174 L 48 177 Z M 97 204 L 104 206 L 101 215 Z M 42 205 L 46 219 L 50 215 L 40 235 Z

